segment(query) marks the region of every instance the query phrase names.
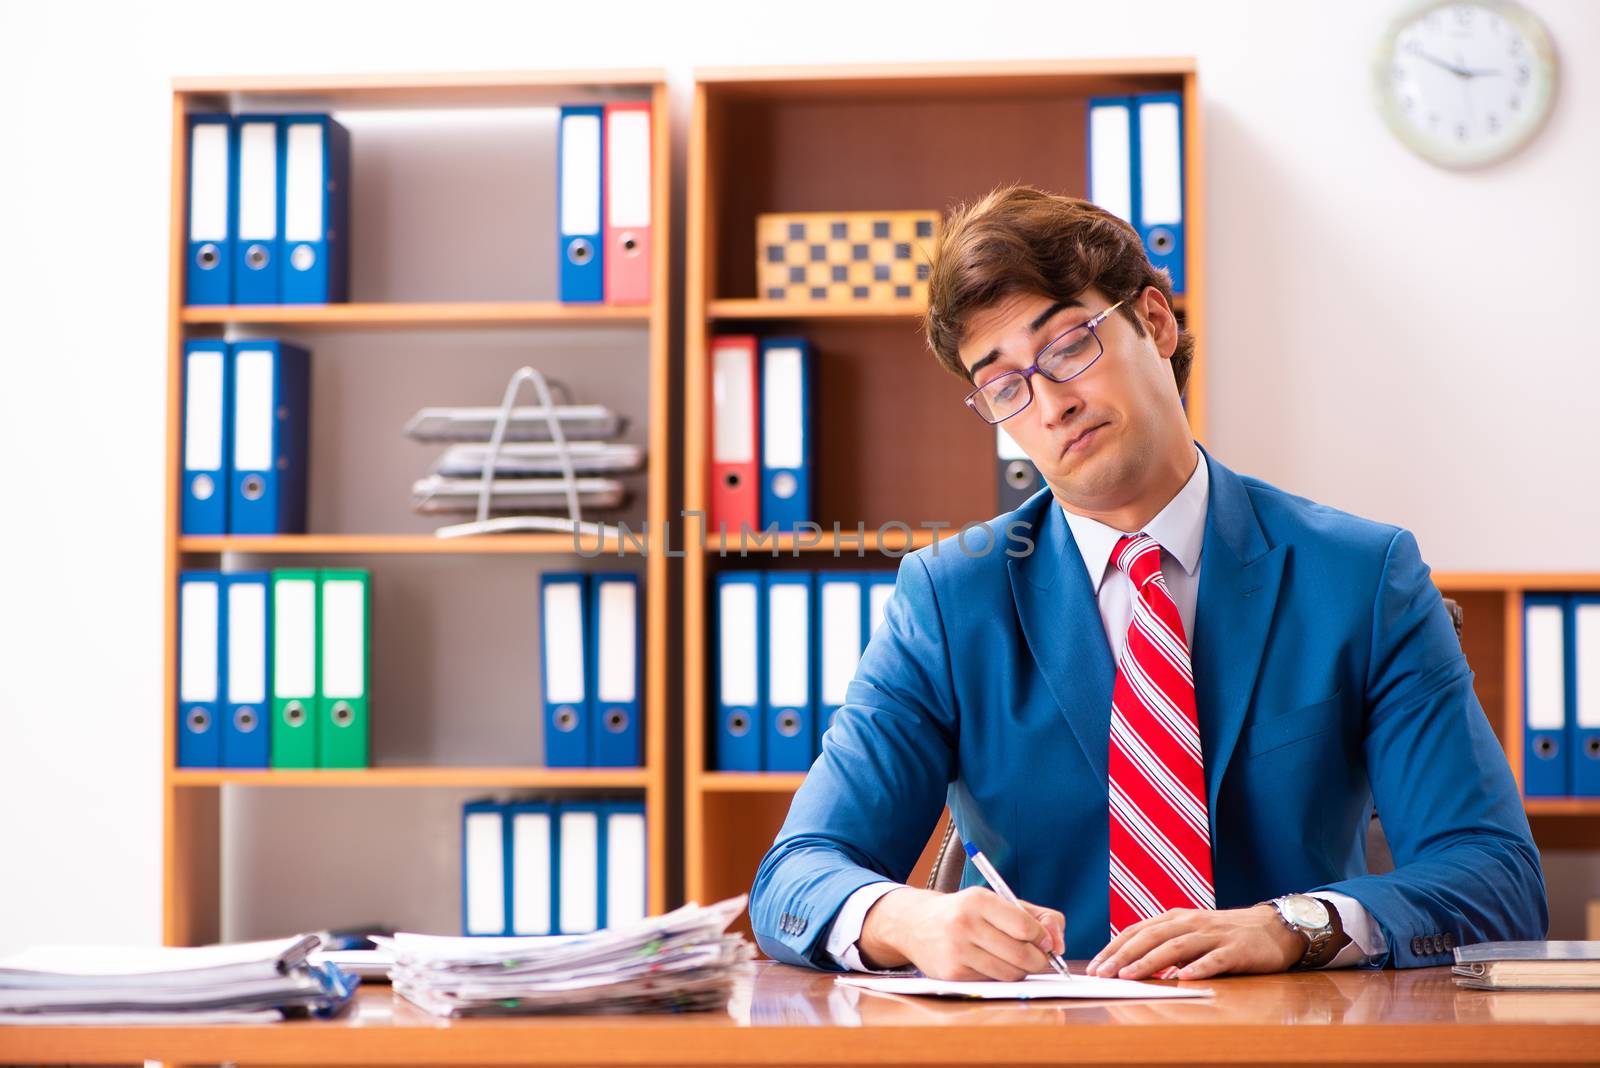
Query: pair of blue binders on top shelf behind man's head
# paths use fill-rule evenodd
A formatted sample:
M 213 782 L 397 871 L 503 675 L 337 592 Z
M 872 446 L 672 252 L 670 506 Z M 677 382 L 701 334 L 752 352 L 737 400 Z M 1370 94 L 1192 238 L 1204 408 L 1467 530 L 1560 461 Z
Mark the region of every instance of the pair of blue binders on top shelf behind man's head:
M 1090 98 L 1090 200 L 1139 232 L 1184 291 L 1184 101 L 1179 93 Z

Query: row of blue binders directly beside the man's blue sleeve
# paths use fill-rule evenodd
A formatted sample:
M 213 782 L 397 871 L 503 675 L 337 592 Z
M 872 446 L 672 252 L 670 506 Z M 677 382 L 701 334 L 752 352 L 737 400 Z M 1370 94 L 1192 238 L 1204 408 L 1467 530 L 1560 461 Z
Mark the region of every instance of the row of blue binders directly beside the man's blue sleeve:
M 893 590 L 886 571 L 718 574 L 712 769 L 806 771 Z

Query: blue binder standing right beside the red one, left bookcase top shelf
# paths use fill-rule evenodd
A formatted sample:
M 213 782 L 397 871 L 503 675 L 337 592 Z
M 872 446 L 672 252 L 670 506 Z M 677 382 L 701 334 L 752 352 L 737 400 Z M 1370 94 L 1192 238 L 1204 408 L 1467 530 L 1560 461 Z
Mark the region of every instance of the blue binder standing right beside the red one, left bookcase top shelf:
M 566 106 L 557 139 L 562 301 L 605 299 L 605 107 Z

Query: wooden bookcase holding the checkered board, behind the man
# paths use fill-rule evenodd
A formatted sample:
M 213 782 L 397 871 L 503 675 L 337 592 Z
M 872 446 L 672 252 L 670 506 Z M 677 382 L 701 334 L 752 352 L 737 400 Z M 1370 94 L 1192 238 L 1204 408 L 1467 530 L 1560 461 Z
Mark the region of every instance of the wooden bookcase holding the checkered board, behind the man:
M 685 275 L 685 507 L 707 505 L 709 349 L 717 333 L 803 334 L 816 360 L 814 521 L 773 550 L 728 555 L 715 531 L 683 561 L 685 895 L 750 887 L 802 774 L 709 769 L 707 710 L 722 569 L 893 569 L 907 548 L 995 513 L 994 430 L 926 350 L 922 302 L 816 305 L 757 297 L 755 216 L 766 211 L 949 211 L 1026 181 L 1085 195 L 1088 99 L 1181 91 L 1187 293 L 1197 336 L 1187 408 L 1205 435 L 1205 160 L 1190 59 L 1094 59 L 696 72 Z M 1042 133 L 1043 131 L 1043 133 Z M 949 147 L 958 144 L 960 152 Z M 893 397 L 893 404 L 869 404 Z M 867 459 L 870 457 L 870 459 Z M 893 521 L 912 528 L 909 545 Z M 842 534 L 834 532 L 838 523 Z M 861 539 L 858 524 L 866 526 Z M 858 555 L 862 545 L 866 560 Z M 837 553 L 837 555 L 835 555 Z M 798 560 L 797 560 L 798 558 Z M 926 855 L 925 855 L 926 860 Z

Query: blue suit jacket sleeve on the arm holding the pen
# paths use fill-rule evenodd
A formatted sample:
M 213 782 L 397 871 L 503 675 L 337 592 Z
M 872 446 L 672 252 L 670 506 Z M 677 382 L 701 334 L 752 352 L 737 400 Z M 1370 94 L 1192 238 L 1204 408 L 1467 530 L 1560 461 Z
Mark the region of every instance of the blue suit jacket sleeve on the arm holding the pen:
M 856 889 L 910 875 L 954 769 L 946 633 L 928 568 L 910 555 L 822 755 L 757 870 L 750 926 L 762 951 L 838 970 L 827 953 L 834 918 Z

